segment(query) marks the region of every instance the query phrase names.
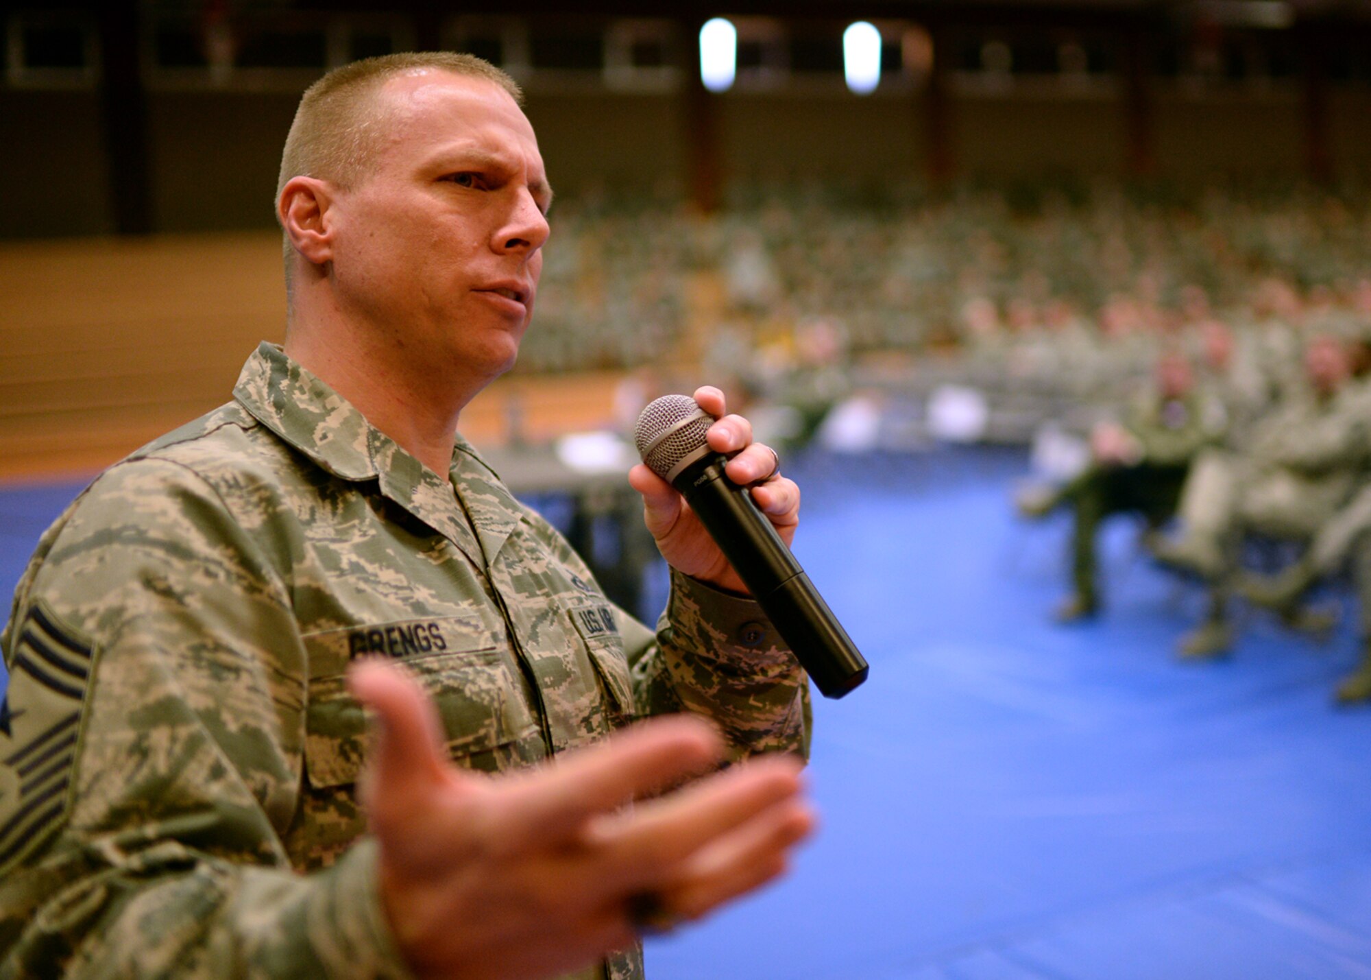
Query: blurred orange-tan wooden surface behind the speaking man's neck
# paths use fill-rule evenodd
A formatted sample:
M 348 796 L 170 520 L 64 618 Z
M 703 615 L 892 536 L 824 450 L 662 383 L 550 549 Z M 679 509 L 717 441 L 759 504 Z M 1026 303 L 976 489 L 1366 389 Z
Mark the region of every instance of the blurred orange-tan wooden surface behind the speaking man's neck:
M 270 231 L 0 244 L 0 479 L 89 472 L 230 397 L 285 334 Z M 518 415 L 540 439 L 603 424 L 617 375 L 496 382 L 462 417 L 477 442 Z

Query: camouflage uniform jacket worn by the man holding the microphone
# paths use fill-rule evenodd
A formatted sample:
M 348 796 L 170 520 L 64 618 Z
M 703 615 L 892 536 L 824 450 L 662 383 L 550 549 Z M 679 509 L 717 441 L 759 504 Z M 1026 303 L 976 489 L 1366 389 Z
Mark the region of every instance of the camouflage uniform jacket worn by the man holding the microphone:
M 433 474 L 269 345 L 47 531 L 3 645 L 3 977 L 406 976 L 352 792 L 362 655 L 477 770 L 680 710 L 739 756 L 809 738 L 754 603 L 677 575 L 654 635 L 470 446 Z

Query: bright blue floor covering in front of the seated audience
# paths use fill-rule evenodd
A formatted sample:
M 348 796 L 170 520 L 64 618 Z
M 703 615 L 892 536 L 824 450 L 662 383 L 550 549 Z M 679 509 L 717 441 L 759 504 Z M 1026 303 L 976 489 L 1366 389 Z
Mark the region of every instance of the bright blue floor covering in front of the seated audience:
M 1371 710 L 1359 652 L 1202 608 L 1127 519 L 1105 614 L 1060 627 L 1067 524 L 1012 516 L 1023 457 L 788 463 L 795 550 L 871 660 L 816 703 L 820 832 L 792 873 L 648 943 L 653 980 L 1371 977 Z M 0 491 L 0 587 L 71 485 Z M 1353 609 L 1348 609 L 1350 619 Z

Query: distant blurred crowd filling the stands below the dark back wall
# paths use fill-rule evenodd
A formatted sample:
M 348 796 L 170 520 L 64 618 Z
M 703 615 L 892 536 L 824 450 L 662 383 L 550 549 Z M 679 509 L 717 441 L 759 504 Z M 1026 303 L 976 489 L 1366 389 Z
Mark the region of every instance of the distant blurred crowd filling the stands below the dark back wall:
M 1267 277 L 1338 288 L 1364 276 L 1371 205 L 1287 185 L 738 180 L 712 215 L 668 185 L 583 188 L 558 198 L 555 224 L 521 369 L 668 369 L 699 354 L 683 350 L 698 329 L 723 329 L 740 338 L 732 373 L 744 373 L 749 350 L 829 320 L 858 360 L 973 349 L 987 375 L 1032 373 L 1058 334 L 1087 335 L 1072 375 L 1087 377 L 1102 346 L 1104 360 L 1145 346 L 1132 321 L 1175 306 L 1185 284 L 1228 309 Z M 998 329 L 964 316 L 975 302 L 1002 310 Z

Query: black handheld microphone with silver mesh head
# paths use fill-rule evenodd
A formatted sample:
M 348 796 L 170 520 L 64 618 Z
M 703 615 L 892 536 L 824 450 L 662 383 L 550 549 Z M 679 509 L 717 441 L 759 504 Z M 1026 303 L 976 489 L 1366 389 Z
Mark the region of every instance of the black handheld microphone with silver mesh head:
M 709 447 L 714 424 L 688 395 L 662 395 L 638 417 L 633 441 L 654 474 L 681 491 L 824 697 L 842 697 L 871 670 L 747 487 Z

